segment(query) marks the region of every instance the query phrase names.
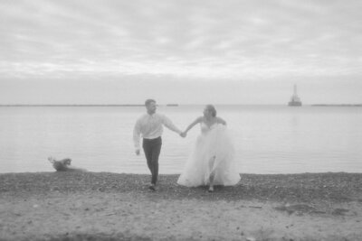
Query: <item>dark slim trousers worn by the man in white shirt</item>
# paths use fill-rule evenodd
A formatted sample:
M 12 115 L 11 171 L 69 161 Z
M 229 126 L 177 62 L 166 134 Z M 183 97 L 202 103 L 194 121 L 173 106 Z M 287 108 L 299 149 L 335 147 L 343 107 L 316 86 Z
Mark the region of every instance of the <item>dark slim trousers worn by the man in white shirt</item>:
M 158 177 L 158 157 L 161 153 L 162 139 L 161 136 L 156 139 L 143 139 L 143 151 L 145 152 L 148 162 L 148 169 L 151 171 L 151 183 L 156 184 Z

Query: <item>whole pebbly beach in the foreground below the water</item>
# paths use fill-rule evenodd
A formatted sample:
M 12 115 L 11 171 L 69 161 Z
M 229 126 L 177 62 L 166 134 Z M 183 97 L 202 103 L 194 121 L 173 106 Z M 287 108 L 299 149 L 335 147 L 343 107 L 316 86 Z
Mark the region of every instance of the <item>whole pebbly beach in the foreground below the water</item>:
M 362 173 L 242 174 L 186 188 L 178 175 L 0 174 L 0 240 L 360 240 Z

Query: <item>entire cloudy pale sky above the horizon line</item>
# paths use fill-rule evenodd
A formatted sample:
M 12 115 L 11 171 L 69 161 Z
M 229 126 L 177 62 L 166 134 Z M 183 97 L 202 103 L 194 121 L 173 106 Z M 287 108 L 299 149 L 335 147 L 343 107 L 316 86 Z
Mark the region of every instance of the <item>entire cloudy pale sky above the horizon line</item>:
M 362 103 L 362 1 L 0 0 L 0 104 Z

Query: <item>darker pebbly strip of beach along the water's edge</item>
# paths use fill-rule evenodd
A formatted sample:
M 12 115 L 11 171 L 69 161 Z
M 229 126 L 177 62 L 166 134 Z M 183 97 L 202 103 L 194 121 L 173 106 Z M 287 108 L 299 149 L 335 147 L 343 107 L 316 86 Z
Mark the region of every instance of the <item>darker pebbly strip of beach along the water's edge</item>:
M 168 197 L 181 199 L 187 194 L 197 196 L 206 187 L 186 188 L 176 183 L 179 174 L 160 174 L 159 191 Z M 232 187 L 216 186 L 223 199 L 261 199 L 274 201 L 329 200 L 362 201 L 362 173 L 320 172 L 298 174 L 243 174 L 242 180 Z M 62 181 L 62 182 L 59 182 Z M 129 192 L 148 190 L 149 174 L 44 171 L 0 173 L 1 192 L 28 192 L 33 194 L 60 192 Z

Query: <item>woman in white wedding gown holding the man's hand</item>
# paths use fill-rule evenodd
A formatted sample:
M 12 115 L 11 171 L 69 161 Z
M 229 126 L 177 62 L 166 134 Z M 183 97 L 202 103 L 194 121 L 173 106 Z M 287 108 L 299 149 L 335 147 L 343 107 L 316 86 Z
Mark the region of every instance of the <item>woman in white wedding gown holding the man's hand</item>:
M 226 122 L 216 116 L 216 109 L 207 105 L 204 116 L 200 116 L 188 125 L 187 132 L 200 124 L 201 134 L 197 137 L 195 148 L 186 162 L 186 166 L 177 183 L 186 187 L 209 185 L 231 186 L 240 181 L 233 160 L 233 143 L 226 130 Z

